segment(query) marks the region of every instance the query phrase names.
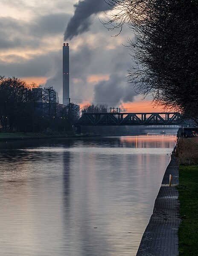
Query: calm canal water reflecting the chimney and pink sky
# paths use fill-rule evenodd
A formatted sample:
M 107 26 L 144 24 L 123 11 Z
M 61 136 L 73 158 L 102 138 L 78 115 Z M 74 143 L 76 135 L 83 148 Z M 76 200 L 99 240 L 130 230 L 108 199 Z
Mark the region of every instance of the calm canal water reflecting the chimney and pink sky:
M 0 142 L 0 256 L 135 256 L 175 137 Z

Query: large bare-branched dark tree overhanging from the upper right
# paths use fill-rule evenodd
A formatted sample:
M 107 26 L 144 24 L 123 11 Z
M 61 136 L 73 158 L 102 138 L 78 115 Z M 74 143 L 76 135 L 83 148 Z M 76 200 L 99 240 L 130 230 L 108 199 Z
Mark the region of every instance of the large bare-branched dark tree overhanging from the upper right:
M 198 1 L 107 0 L 103 24 L 134 32 L 128 40 L 134 65 L 128 79 L 166 109 L 198 119 Z

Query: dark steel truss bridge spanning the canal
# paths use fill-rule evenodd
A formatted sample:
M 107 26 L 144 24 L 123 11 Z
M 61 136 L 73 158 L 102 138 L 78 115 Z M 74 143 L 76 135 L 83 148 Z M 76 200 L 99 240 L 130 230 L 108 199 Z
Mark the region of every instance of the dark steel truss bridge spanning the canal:
M 187 125 L 178 112 L 84 113 L 75 126 Z

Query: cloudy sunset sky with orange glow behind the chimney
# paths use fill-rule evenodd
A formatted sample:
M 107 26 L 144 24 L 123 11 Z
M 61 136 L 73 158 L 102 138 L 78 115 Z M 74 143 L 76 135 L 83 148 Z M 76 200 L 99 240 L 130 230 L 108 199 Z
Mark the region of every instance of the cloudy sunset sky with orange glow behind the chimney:
M 127 82 L 133 65 L 124 45 L 133 32 L 106 29 L 104 0 L 1 0 L 0 75 L 53 86 L 62 103 L 62 45 L 70 46 L 71 102 L 108 104 L 128 112 L 157 112 Z

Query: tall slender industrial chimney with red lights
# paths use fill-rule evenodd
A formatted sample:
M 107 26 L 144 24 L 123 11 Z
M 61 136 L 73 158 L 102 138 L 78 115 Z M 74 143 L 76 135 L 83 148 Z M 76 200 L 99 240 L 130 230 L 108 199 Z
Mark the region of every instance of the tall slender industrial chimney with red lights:
M 63 44 L 63 105 L 69 103 L 70 98 L 70 66 L 69 44 Z

